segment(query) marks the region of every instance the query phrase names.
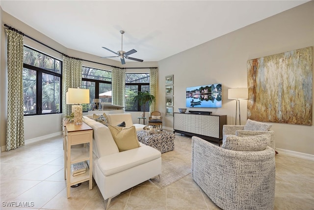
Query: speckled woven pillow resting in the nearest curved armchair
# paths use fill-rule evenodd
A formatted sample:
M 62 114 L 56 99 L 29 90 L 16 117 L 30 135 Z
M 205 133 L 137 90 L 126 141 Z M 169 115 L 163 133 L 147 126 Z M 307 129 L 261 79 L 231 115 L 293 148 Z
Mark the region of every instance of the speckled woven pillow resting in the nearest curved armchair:
M 222 140 L 222 148 L 235 151 L 262 151 L 270 142 L 270 134 L 239 137 L 225 135 Z

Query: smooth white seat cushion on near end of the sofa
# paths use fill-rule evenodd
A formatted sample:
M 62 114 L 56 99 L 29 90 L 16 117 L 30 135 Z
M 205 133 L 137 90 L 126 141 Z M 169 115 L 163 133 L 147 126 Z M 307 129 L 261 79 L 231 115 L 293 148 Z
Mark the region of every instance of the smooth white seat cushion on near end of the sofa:
M 160 157 L 160 151 L 141 144 L 141 147 L 139 148 L 122 151 L 99 158 L 98 165 L 102 173 L 105 176 L 109 176 L 147 163 Z

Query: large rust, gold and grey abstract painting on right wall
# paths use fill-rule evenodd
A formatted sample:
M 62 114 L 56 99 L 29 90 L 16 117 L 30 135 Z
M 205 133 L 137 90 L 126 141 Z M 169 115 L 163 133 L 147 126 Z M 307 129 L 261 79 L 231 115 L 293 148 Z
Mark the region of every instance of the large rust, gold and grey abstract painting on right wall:
M 247 118 L 312 125 L 313 47 L 248 60 Z

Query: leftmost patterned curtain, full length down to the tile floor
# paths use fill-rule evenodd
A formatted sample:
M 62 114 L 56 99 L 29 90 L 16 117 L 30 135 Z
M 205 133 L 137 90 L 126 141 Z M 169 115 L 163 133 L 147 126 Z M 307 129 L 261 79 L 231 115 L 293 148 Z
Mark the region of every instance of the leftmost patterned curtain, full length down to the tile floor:
M 7 34 L 8 99 L 6 150 L 25 145 L 23 102 L 23 35 L 5 30 Z

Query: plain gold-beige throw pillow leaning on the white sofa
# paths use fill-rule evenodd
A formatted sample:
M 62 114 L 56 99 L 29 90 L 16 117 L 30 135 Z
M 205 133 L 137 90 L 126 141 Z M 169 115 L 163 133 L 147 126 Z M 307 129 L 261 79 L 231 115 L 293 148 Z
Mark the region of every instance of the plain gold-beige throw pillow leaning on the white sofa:
M 131 150 L 140 147 L 136 136 L 135 126 L 123 128 L 108 124 L 111 135 L 118 146 L 119 151 Z

